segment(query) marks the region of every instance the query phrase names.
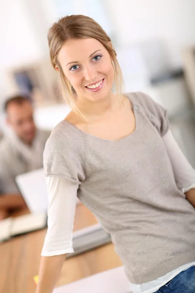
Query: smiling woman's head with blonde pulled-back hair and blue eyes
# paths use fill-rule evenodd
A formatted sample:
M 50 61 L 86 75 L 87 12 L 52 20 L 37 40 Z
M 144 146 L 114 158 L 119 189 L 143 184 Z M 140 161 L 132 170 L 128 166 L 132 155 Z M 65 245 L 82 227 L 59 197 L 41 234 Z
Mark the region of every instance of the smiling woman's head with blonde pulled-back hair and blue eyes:
M 121 95 L 123 77 L 117 53 L 96 21 L 82 15 L 64 17 L 50 28 L 48 41 L 64 99 L 81 118 L 86 120 L 79 106 L 86 99 L 104 100 L 113 86 L 117 96 Z

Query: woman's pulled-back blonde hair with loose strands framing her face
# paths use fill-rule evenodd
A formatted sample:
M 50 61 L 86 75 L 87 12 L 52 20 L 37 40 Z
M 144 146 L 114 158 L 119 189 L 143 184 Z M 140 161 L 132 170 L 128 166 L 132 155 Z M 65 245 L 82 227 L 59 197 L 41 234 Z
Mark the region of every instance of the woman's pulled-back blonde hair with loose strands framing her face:
M 117 61 L 117 53 L 111 44 L 111 39 L 107 36 L 102 27 L 92 18 L 84 15 L 71 15 L 59 19 L 48 32 L 48 43 L 50 59 L 54 68 L 59 68 L 59 86 L 67 105 L 86 121 L 77 105 L 77 93 L 69 82 L 66 81 L 63 70 L 58 61 L 58 55 L 63 44 L 70 39 L 94 38 L 103 44 L 108 50 L 114 68 L 114 81 L 117 96 L 122 94 L 123 76 L 120 65 Z

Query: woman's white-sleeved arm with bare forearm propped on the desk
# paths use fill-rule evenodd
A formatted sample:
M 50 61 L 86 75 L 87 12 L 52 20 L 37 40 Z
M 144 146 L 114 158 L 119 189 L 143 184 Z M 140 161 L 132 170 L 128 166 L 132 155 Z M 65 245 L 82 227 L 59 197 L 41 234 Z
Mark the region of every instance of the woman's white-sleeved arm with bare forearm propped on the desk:
M 47 177 L 48 230 L 41 252 L 36 293 L 52 293 L 65 260 L 74 252 L 72 231 L 78 184 L 65 178 Z

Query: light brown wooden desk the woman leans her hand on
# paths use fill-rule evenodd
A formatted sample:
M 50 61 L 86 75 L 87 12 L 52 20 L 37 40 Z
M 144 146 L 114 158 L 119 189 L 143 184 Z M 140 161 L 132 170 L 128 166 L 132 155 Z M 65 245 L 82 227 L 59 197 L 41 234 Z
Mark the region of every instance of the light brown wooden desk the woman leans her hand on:
M 27 212 L 26 210 L 22 213 Z M 82 204 L 77 206 L 74 230 L 96 223 L 97 220 L 89 209 Z M 39 230 L 0 244 L 0 293 L 35 293 L 33 276 L 39 272 L 45 234 L 46 229 Z M 107 244 L 65 260 L 57 285 L 74 282 L 121 265 L 113 244 Z

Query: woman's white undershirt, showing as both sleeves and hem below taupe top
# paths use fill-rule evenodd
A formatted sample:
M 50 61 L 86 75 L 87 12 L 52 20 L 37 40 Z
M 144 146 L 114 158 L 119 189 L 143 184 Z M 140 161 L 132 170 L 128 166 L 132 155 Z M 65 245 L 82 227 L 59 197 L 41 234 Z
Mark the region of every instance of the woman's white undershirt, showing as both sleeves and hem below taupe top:
M 183 155 L 171 130 L 168 130 L 162 139 L 175 173 L 177 187 L 183 193 L 195 188 L 195 170 Z M 185 182 L 185 186 L 182 186 L 183 182 Z M 46 177 L 46 183 L 49 197 L 48 230 L 41 255 L 52 256 L 74 252 L 72 231 L 78 184 L 66 178 L 54 176 Z M 195 262 L 181 266 L 151 282 L 130 284 L 131 291 L 133 293 L 154 293 L 179 272 L 187 270 L 193 265 Z

